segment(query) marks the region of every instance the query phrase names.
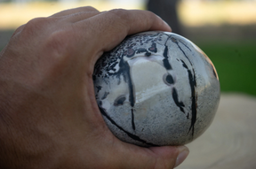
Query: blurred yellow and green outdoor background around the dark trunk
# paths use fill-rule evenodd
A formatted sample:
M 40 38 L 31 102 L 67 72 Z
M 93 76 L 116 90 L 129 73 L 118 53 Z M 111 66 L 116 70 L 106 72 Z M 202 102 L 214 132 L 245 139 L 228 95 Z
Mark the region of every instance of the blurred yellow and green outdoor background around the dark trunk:
M 146 0 L 0 0 L 0 50 L 29 19 L 84 5 L 104 11 L 145 10 L 146 4 Z M 180 0 L 177 12 L 182 35 L 204 50 L 215 65 L 221 91 L 256 96 L 256 1 Z

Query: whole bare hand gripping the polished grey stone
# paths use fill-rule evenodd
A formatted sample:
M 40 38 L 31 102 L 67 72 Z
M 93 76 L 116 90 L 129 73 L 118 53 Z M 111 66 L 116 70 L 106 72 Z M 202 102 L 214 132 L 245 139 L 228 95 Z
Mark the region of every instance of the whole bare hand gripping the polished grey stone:
M 92 7 L 20 26 L 0 53 L 0 168 L 180 165 L 184 146 L 141 148 L 116 139 L 94 96 L 97 59 L 126 35 L 147 30 L 171 28 L 151 12 Z

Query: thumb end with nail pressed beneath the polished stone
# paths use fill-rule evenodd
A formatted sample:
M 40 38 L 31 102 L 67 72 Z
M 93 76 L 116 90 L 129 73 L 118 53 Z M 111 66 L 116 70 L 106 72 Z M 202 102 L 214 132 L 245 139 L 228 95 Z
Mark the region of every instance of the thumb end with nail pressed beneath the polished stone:
M 127 168 L 140 169 L 172 169 L 180 165 L 188 157 L 189 153 L 188 148 L 185 146 L 141 148 L 126 144 L 124 149 L 122 157 L 125 160 L 123 160 L 123 165 L 127 166 Z

